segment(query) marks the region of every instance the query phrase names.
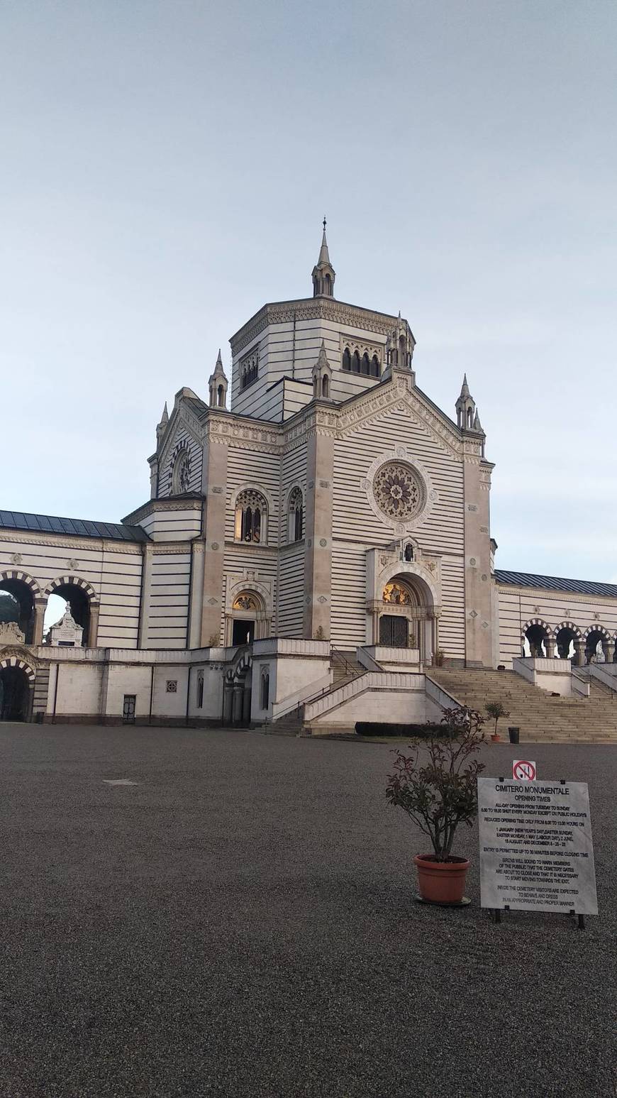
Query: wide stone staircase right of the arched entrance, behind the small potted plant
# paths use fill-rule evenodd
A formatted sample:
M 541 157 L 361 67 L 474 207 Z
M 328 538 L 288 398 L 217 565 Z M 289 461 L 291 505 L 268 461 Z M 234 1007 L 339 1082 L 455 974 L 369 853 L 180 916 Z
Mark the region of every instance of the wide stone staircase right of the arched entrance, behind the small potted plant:
M 521 742 L 617 743 L 617 697 L 596 682 L 590 684 L 590 697 L 553 697 L 514 671 L 431 668 L 427 674 L 461 705 L 484 715 L 487 702 L 502 702 L 509 713 L 498 724 L 504 740 L 508 725 L 515 725 Z M 486 732 L 492 728 L 487 718 Z

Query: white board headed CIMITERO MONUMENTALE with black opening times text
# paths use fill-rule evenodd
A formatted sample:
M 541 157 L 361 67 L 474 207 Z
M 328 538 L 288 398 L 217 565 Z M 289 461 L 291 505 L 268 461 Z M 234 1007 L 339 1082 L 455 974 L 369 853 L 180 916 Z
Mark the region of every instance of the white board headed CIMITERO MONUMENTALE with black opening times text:
M 478 778 L 480 903 L 597 915 L 585 782 Z

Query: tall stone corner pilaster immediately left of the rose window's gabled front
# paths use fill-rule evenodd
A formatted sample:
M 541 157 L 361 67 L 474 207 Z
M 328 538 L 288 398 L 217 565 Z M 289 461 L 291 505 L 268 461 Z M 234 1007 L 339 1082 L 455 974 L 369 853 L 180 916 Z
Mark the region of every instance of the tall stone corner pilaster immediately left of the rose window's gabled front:
M 332 494 L 334 438 L 318 434 L 314 412 L 306 444 L 306 518 L 304 556 L 304 637 L 321 632 L 330 638 L 332 602 Z

